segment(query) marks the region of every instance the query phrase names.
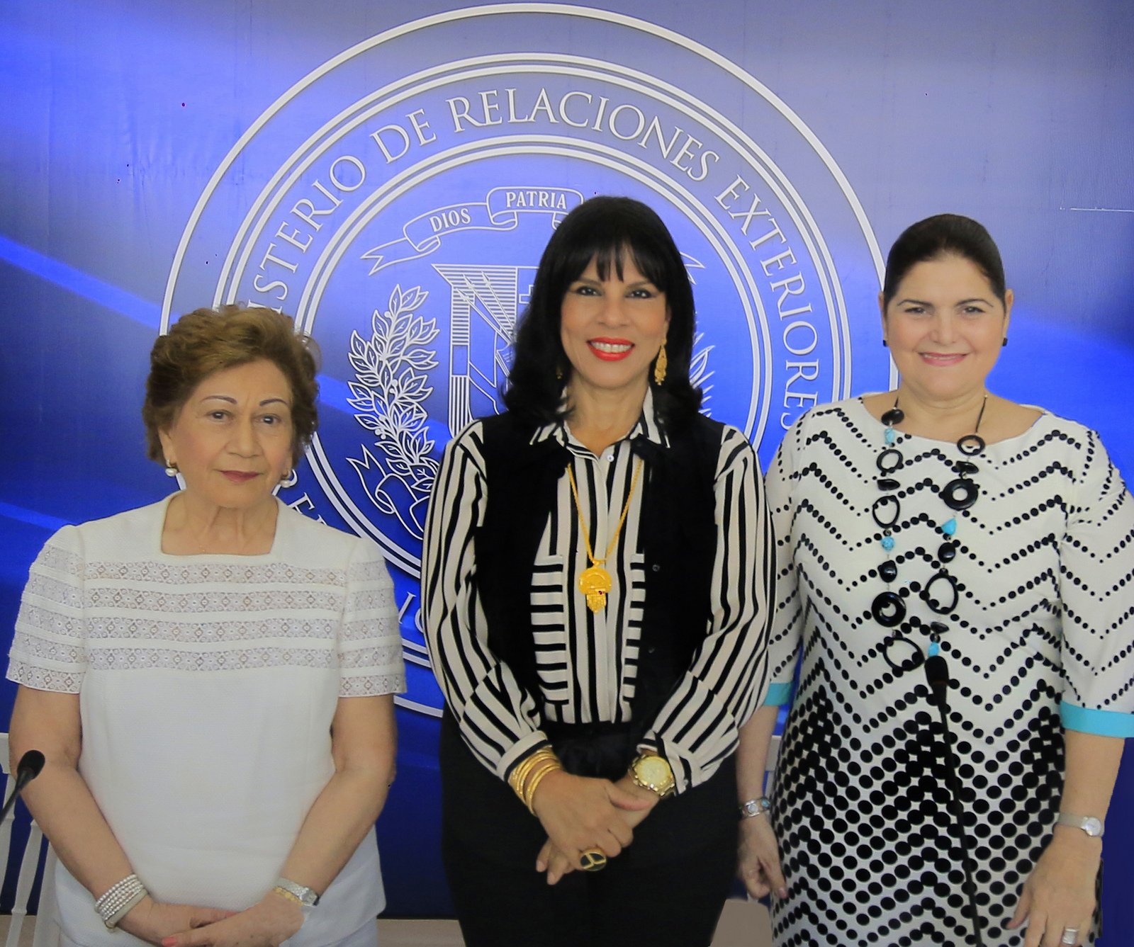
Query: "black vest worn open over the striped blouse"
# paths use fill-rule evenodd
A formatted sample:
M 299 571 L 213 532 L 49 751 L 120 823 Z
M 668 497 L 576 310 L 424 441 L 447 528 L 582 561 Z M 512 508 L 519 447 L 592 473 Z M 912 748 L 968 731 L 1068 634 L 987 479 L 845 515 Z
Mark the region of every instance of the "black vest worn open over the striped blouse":
M 697 415 L 683 429 L 667 432 L 668 447 L 645 437 L 632 445 L 645 461 L 640 487 L 645 608 L 632 701 L 634 722 L 643 728 L 688 669 L 709 628 L 721 427 Z M 539 706 L 531 578 L 570 452 L 555 438 L 532 444 L 535 428 L 510 413 L 485 419 L 483 430 L 489 500 L 474 539 L 477 591 L 489 647 Z

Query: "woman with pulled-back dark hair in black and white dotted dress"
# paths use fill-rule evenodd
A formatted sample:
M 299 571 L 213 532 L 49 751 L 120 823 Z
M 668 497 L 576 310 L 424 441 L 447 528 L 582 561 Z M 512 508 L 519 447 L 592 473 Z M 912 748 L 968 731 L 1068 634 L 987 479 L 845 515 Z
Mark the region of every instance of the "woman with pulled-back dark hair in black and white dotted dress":
M 897 389 L 807 412 L 768 471 L 771 685 L 737 765 L 777 947 L 1098 937 L 1134 502 L 1093 430 L 989 390 L 1012 308 L 980 223 L 913 224 L 879 293 Z

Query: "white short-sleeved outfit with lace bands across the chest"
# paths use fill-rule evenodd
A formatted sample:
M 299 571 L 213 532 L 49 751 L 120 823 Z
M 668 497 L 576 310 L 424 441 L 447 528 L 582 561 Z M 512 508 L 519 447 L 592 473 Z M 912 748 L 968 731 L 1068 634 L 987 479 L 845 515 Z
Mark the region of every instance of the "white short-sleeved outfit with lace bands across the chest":
M 79 771 L 153 896 L 242 910 L 333 771 L 339 698 L 405 689 L 393 588 L 372 541 L 284 504 L 264 555 L 167 555 L 167 504 L 48 541 L 8 676 L 79 694 Z M 62 865 L 57 887 L 70 940 L 141 944 Z M 289 944 L 341 940 L 383 905 L 372 834 Z

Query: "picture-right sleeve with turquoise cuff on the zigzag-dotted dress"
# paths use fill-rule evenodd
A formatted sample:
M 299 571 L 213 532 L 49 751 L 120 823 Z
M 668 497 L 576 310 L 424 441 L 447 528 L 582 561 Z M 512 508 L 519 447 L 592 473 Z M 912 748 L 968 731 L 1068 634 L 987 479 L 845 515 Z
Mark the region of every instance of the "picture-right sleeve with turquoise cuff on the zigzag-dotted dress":
M 1093 432 L 1059 547 L 1064 726 L 1134 736 L 1134 501 Z

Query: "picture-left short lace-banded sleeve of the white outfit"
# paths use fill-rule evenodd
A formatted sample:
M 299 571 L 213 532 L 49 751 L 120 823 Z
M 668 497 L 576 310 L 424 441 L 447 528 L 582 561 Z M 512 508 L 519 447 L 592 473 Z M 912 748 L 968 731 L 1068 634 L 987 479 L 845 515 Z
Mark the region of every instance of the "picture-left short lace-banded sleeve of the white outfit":
M 87 668 L 79 530 L 65 526 L 32 563 L 8 652 L 8 680 L 37 691 L 78 693 Z

